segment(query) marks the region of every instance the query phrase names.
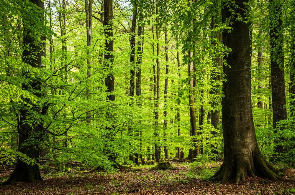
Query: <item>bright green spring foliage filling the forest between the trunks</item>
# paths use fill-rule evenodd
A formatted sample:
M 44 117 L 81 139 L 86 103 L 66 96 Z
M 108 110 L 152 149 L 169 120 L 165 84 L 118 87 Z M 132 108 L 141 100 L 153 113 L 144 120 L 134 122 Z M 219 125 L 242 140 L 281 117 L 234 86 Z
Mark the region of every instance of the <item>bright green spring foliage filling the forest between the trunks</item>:
M 81 162 L 83 167 L 77 169 L 101 168 L 113 171 L 118 164 L 133 164 L 129 160 L 130 154 L 142 155 L 145 161 L 151 159 L 155 144 L 161 148 L 162 158 L 164 146 L 167 146 L 171 157 L 175 156 L 176 148 L 181 148 L 187 156 L 189 149 L 195 147 L 192 140 L 196 138 L 196 144 L 203 154 L 192 163 L 193 173 L 189 174 L 207 178 L 211 172 L 206 169 L 206 162 L 222 157 L 223 152 L 221 121 L 214 128 L 208 115 L 217 111 L 221 118 L 222 82 L 226 82 L 222 67 L 227 65 L 223 57 L 234 52 L 226 48 L 218 36 L 222 32 L 231 32 L 233 22 L 244 21 L 250 24 L 252 33 L 251 92 L 258 146 L 267 159 L 274 155 L 276 144 L 288 147 L 290 150 L 281 155 L 279 160 L 294 163 L 295 118 L 289 112 L 291 106 L 286 106 L 288 120 L 281 121 L 279 130 L 273 133 L 270 59 L 267 57 L 270 55 L 269 31 L 273 27 L 269 27 L 266 21 L 275 16 L 268 14 L 268 11 L 273 11 L 269 10 L 268 3 L 250 1 L 246 5 L 251 11 L 241 15 L 234 1 L 137 2 L 137 24 L 144 26 L 144 35 L 135 37 L 136 42 L 143 41 L 142 64 L 135 63 L 135 72 L 141 69 L 142 94 L 130 97 L 130 70 L 133 66 L 130 63 L 129 24 L 132 23 L 135 1 L 130 2 L 130 5 L 114 2 L 112 67 L 105 66 L 108 62 L 104 60 L 107 54 L 104 45 L 109 40 L 109 37 L 104 36 L 105 27 L 93 19 L 93 41 L 87 47 L 85 2 L 65 2 L 63 9 L 62 2 L 45 1 L 45 10 L 42 10 L 27 0 L 0 0 L 1 162 L 12 164 L 16 162 L 15 158 L 19 158 L 28 164 L 36 163 L 38 159 L 30 159 L 17 151 L 16 135 L 21 133 L 22 125 L 31 128 L 40 125 L 40 134 L 32 134 L 22 147 L 36 145 L 41 151 L 41 158 L 46 159 L 48 164 L 54 163 L 58 171 L 68 171 L 69 167 L 65 163 L 71 161 Z M 282 28 L 284 32 L 281 33 L 281 38 L 286 40 L 283 49 L 288 74 L 294 71 L 292 2 L 283 2 L 288 9 L 283 12 L 286 18 Z M 230 6 L 232 12 L 232 17 L 224 23 L 221 18 L 223 6 Z M 93 15 L 99 17 L 100 8 L 100 2 L 95 1 Z M 28 28 L 24 29 L 24 26 Z M 156 27 L 160 34 L 158 40 L 155 39 Z M 65 32 L 62 35 L 63 30 Z M 165 44 L 163 32 L 168 34 L 168 44 Z M 31 67 L 22 61 L 22 51 L 30 49 L 22 40 L 27 33 L 33 39 L 33 44 L 45 44 L 42 68 Z M 158 56 L 157 44 L 160 47 Z M 164 57 L 164 46 L 168 47 L 168 62 Z M 188 57 L 189 50 L 194 54 L 191 59 Z M 259 58 L 258 52 L 262 52 L 265 57 Z M 136 50 L 135 59 L 137 57 Z M 87 60 L 91 61 L 90 65 Z M 156 127 L 154 69 L 157 60 L 160 62 L 160 99 L 157 102 L 159 119 Z M 189 61 L 194 62 L 191 77 L 187 74 Z M 166 76 L 163 75 L 166 64 L 170 72 L 167 75 L 168 98 L 164 108 Z M 88 71 L 90 76 L 87 75 Z M 109 73 L 115 78 L 113 95 L 116 100 L 112 102 L 106 100 L 109 94 L 104 85 L 104 79 Z M 190 136 L 188 98 L 189 80 L 192 78 L 195 81 L 193 95 L 198 123 L 196 136 Z M 36 80 L 41 82 L 41 90 L 33 90 L 31 83 Z M 286 80 L 289 80 L 287 74 Z M 25 90 L 25 87 L 28 89 Z M 291 105 L 294 100 L 289 98 L 288 87 L 287 104 Z M 20 110 L 26 110 L 27 113 L 22 123 Z M 41 113 L 42 110 L 45 113 Z M 162 114 L 164 110 L 167 111 L 167 117 Z M 111 117 L 107 113 L 112 113 Z M 203 124 L 199 118 L 201 115 L 204 117 Z M 166 130 L 164 120 L 168 121 Z M 111 127 L 111 131 L 107 127 Z M 178 128 L 181 135 L 177 135 Z M 286 141 L 281 141 L 281 138 Z M 213 150 L 217 150 L 219 155 L 214 155 Z

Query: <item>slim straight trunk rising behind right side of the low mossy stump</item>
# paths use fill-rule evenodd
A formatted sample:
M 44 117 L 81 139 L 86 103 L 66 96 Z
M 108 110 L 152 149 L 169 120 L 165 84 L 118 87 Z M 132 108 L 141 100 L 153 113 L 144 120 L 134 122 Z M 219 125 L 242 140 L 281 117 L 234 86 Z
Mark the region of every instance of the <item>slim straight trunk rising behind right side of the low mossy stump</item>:
M 167 147 L 167 94 L 168 94 L 168 74 L 169 74 L 169 57 L 168 57 L 168 34 L 167 31 L 165 32 L 165 60 L 166 60 L 166 72 L 165 72 L 165 85 L 164 85 L 164 123 L 163 123 L 163 137 L 164 137 L 164 154 L 165 158 L 169 159 L 168 147 Z

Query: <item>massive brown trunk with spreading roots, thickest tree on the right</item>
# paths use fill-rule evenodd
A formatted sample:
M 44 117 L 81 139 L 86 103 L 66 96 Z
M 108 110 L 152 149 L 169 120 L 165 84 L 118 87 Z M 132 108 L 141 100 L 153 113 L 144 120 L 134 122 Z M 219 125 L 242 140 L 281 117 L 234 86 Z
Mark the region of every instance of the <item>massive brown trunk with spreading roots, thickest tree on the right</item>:
M 228 22 L 234 9 L 245 16 L 248 0 L 238 0 L 235 9 L 232 4 L 223 5 L 222 22 Z M 210 179 L 225 183 L 235 178 L 235 183 L 245 181 L 255 174 L 268 179 L 281 179 L 279 172 L 262 156 L 255 135 L 251 105 L 251 55 L 249 24 L 243 21 L 231 21 L 232 31 L 224 31 L 223 44 L 232 49 L 225 60 L 224 97 L 222 98 L 222 130 L 224 138 L 224 160 L 217 173 Z M 229 68 L 230 66 L 230 68 Z

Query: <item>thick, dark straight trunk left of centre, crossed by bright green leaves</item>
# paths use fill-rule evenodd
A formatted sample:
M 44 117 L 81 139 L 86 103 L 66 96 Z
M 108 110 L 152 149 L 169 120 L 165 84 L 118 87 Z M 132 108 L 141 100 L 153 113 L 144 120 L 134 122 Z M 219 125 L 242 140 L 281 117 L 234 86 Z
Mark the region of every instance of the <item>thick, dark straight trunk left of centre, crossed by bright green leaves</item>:
M 104 0 L 104 36 L 105 36 L 105 53 L 104 53 L 104 65 L 108 69 L 108 74 L 106 78 L 104 79 L 104 85 L 106 86 L 106 92 L 107 92 L 107 100 L 110 104 L 115 100 L 114 90 L 115 90 L 115 77 L 113 75 L 113 63 L 114 63 L 114 40 L 113 40 L 113 27 L 112 23 L 110 22 L 113 19 L 113 5 L 112 0 Z M 113 142 L 115 140 L 115 128 L 113 119 L 113 114 L 109 109 L 106 111 L 106 115 L 109 120 L 108 126 L 106 126 L 106 129 L 108 130 L 107 137 L 110 142 Z M 113 147 L 112 143 L 109 143 L 110 147 Z M 113 148 L 111 148 L 108 152 L 109 158 L 112 161 L 115 161 L 115 153 L 113 151 Z

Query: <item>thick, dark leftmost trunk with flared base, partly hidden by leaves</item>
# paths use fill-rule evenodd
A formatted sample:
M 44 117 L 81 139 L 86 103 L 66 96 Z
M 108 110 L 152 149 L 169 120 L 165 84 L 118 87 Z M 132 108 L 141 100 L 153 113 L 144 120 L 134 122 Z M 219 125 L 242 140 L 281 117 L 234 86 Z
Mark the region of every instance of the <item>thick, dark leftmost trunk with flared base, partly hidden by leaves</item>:
M 30 0 L 30 3 L 35 4 L 36 6 L 40 7 L 43 11 L 44 9 L 44 2 L 41 0 Z M 35 16 L 39 19 L 42 19 L 41 11 L 34 10 L 32 14 L 36 14 Z M 37 15 L 40 16 L 37 16 Z M 43 43 L 38 41 L 38 37 L 31 37 L 31 32 L 29 29 L 31 27 L 27 27 L 26 24 L 31 24 L 31 22 L 25 22 L 25 19 L 30 16 L 25 16 L 23 18 L 24 24 L 24 37 L 23 37 L 23 44 L 26 48 L 22 52 L 23 62 L 26 63 L 28 66 L 32 68 L 40 68 L 42 64 L 42 52 L 43 52 Z M 36 25 L 41 25 L 42 22 L 37 22 Z M 38 35 L 39 40 L 43 35 Z M 36 44 L 37 42 L 37 44 Z M 25 72 L 24 77 L 27 79 L 31 79 L 30 72 Z M 42 80 L 40 77 L 36 77 L 32 79 L 28 83 L 29 85 L 22 84 L 22 88 L 24 90 L 32 92 L 35 96 L 41 97 L 41 85 Z M 33 90 L 33 91 L 32 91 Z M 24 99 L 24 101 L 33 105 L 32 110 L 26 105 L 22 105 L 20 107 L 20 120 L 18 121 L 18 132 L 19 132 L 19 148 L 18 151 L 26 154 L 28 157 L 39 161 L 40 156 L 40 140 L 42 139 L 43 128 L 42 123 L 40 123 L 39 119 L 40 116 L 38 115 L 45 115 L 47 108 L 40 108 L 38 105 L 29 102 L 29 100 Z M 33 114 L 34 113 L 34 114 Z M 36 116 L 37 115 L 37 116 Z M 36 120 L 30 123 L 27 120 Z M 41 175 L 39 166 L 37 164 L 27 164 L 17 159 L 17 165 L 13 171 L 13 173 L 9 176 L 9 179 L 4 183 L 4 185 L 14 184 L 17 181 L 26 181 L 26 182 L 34 182 L 34 181 L 41 181 Z

